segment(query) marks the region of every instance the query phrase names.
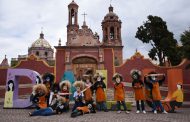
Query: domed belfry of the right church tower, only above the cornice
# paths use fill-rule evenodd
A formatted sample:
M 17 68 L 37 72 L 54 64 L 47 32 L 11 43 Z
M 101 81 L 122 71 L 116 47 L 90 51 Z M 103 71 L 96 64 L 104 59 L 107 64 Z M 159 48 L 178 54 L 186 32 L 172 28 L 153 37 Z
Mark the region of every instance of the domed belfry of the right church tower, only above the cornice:
M 110 5 L 109 13 L 102 21 L 104 45 L 122 46 L 121 23 L 121 20 L 119 20 L 117 14 L 113 12 L 113 7 Z

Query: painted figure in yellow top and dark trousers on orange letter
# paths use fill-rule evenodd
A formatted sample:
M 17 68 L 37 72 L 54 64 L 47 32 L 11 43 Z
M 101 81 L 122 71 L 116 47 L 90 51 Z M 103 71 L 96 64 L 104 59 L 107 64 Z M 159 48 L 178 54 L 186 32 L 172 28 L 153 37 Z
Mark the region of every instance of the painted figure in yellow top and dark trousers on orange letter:
M 170 101 L 171 110 L 170 113 L 175 113 L 175 107 L 181 107 L 183 104 L 183 91 L 182 84 L 177 84 L 177 90 L 172 94 L 172 99 Z

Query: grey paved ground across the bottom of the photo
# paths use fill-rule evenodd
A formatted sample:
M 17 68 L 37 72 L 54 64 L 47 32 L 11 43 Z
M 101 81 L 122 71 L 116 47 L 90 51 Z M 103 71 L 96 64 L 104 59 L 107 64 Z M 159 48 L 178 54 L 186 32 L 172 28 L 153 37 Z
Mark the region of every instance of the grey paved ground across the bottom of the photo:
M 70 118 L 70 112 L 53 116 L 29 117 L 33 109 L 3 109 L 0 105 L 0 122 L 190 122 L 190 108 L 181 108 L 178 113 L 169 114 L 136 114 L 135 107 L 130 114 L 117 114 L 115 111 L 85 114 Z

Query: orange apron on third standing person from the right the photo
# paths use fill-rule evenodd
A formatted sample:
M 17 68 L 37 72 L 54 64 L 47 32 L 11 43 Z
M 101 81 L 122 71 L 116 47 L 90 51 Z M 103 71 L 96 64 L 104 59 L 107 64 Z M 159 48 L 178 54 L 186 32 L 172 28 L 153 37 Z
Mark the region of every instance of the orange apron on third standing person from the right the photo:
M 124 86 L 122 83 L 119 83 L 118 85 L 114 85 L 115 92 L 114 92 L 114 99 L 115 101 L 124 101 L 125 99 L 125 92 L 124 92 Z

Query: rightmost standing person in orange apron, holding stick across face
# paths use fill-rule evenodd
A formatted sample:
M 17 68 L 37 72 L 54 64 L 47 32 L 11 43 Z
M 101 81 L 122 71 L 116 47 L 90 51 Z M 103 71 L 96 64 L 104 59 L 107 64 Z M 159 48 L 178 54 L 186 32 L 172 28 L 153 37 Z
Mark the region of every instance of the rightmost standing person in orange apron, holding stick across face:
M 158 76 L 162 76 L 162 79 L 158 79 Z M 152 99 L 153 99 L 153 112 L 157 114 L 157 108 L 160 108 L 162 113 L 167 114 L 167 112 L 164 110 L 164 107 L 162 106 L 161 103 L 161 93 L 160 93 L 160 85 L 162 82 L 165 80 L 165 75 L 164 74 L 157 74 L 155 72 L 150 72 L 148 76 L 145 76 L 145 82 L 151 83 L 152 84 L 152 89 L 151 89 L 151 94 L 152 94 Z

